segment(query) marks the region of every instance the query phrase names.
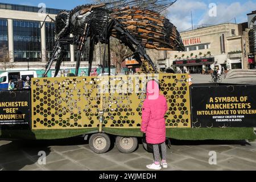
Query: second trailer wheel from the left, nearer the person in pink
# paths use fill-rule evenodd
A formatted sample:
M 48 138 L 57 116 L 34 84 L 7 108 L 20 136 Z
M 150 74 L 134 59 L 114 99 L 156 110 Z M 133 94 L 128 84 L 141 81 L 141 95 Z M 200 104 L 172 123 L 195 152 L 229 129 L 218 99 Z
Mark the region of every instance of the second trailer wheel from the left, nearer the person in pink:
M 136 137 L 117 137 L 115 138 L 117 149 L 125 154 L 134 152 L 138 146 L 138 139 Z

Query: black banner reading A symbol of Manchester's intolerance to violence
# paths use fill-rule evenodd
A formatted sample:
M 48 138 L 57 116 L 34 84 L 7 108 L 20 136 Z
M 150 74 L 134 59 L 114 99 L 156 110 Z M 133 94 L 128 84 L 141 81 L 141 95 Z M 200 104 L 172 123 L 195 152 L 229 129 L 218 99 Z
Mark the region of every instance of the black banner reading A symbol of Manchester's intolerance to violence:
M 256 127 L 256 85 L 192 86 L 193 127 Z

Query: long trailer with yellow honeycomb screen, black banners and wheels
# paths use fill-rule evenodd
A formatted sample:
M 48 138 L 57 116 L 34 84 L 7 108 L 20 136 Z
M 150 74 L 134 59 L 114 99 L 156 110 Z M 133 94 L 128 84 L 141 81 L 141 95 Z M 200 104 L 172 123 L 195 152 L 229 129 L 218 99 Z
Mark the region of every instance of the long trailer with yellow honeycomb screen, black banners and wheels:
M 243 118 L 219 122 L 217 119 L 220 118 L 213 116 L 238 114 L 225 114 L 223 109 L 208 106 L 217 106 L 211 98 L 215 100 L 218 95 L 226 98 L 230 94 L 232 101 L 226 101 L 227 104 L 234 102 L 239 105 L 242 102 L 242 106 L 250 105 L 250 108 L 243 110 L 253 112 L 256 111 L 253 93 L 234 92 L 236 85 L 189 86 L 188 74 L 169 73 L 32 78 L 30 90 L 0 92 L 0 138 L 61 139 L 82 136 L 89 139 L 92 151 L 101 154 L 109 150 L 111 135 L 119 151 L 133 152 L 138 146 L 138 138 L 143 135 L 140 132 L 141 109 L 146 98 L 146 83 L 152 79 L 159 82 L 160 92 L 167 98 L 167 138 L 256 139 L 253 128 L 256 126 L 255 114 L 243 111 L 239 114 Z M 245 92 L 250 86 L 240 87 Z M 233 101 L 235 97 L 240 101 Z M 202 114 L 212 110 L 213 115 Z M 216 113 L 218 110 L 222 113 Z

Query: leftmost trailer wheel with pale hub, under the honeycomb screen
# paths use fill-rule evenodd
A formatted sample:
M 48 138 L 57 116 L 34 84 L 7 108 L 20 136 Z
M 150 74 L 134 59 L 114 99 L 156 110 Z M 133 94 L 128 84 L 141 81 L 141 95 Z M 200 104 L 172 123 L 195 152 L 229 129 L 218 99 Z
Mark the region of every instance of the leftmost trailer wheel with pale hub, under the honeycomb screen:
M 89 146 L 93 152 L 103 154 L 110 148 L 110 137 L 104 133 L 93 134 L 90 136 Z

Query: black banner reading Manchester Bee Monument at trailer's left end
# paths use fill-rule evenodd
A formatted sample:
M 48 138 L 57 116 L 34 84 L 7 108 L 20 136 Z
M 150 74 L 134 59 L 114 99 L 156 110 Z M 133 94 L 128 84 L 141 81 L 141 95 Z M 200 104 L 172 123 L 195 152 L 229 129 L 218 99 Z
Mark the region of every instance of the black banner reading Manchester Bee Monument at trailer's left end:
M 0 127 L 30 128 L 30 91 L 0 92 Z

